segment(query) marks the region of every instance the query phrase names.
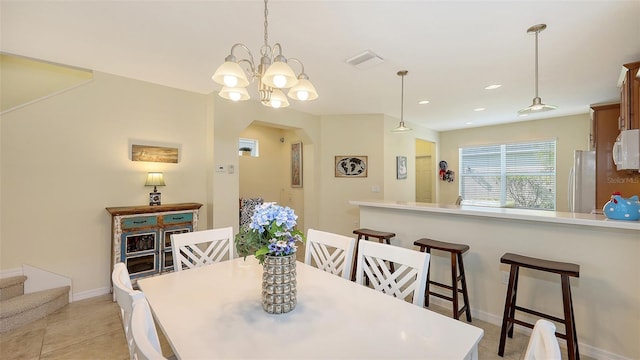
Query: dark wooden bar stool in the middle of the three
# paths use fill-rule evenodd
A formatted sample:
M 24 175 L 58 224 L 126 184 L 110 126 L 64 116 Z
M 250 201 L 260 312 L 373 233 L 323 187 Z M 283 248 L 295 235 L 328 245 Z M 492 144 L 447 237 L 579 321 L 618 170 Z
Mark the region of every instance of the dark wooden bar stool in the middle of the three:
M 431 254 L 431 249 L 446 251 L 451 253 L 451 286 L 442 284 L 436 281 L 429 280 L 431 269 L 427 272 L 427 286 L 424 291 L 424 303 L 426 307 L 429 307 L 429 295 L 439 297 L 441 299 L 449 300 L 453 302 L 453 318 L 460 319 L 460 315 L 464 312 L 467 316 L 467 321 L 471 322 L 471 309 L 469 308 L 469 294 L 467 292 L 467 281 L 464 275 L 464 263 L 462 262 L 462 254 L 469 250 L 468 245 L 454 244 L 444 241 L 431 240 L 422 238 L 413 242 L 413 245 L 420 246 L 420 251 L 427 251 Z M 431 268 L 431 261 L 429 261 L 429 268 Z M 458 268 L 460 275 L 458 275 Z M 460 282 L 462 288 L 458 288 L 458 282 Z M 439 286 L 441 288 L 451 290 L 451 296 L 439 294 L 429 290 L 429 284 Z M 464 306 L 459 308 L 458 293 L 462 293 L 462 300 Z

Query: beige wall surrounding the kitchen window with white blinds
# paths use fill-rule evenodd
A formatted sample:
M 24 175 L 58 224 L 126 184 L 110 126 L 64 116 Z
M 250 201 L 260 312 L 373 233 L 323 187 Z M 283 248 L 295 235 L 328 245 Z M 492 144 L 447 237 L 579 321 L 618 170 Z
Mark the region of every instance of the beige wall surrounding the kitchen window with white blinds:
M 440 202 L 454 203 L 458 197 L 458 149 L 469 145 L 526 140 L 556 139 L 556 210 L 568 211 L 567 188 L 574 150 L 589 148 L 589 114 L 525 121 L 508 125 L 445 131 L 440 133 L 440 156 L 456 172 L 454 182 L 440 181 Z

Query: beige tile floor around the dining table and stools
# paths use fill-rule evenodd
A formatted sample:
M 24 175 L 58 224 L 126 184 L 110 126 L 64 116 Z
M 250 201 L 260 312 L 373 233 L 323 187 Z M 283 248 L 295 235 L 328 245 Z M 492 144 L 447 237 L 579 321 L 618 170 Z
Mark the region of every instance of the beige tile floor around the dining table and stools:
M 445 315 L 451 313 L 450 309 L 433 305 L 431 308 Z M 43 319 L 0 334 L 0 359 L 127 360 L 129 352 L 119 311 L 111 295 L 71 303 Z M 485 331 L 479 347 L 481 360 L 518 360 L 524 356 L 527 336 L 514 334 L 513 339 L 507 341 L 505 356 L 501 358 L 497 355 L 500 328 L 477 319 L 473 325 Z M 163 353 L 172 355 L 162 333 L 159 335 Z M 563 358 L 566 358 L 564 349 Z M 589 358 L 582 356 L 582 359 Z

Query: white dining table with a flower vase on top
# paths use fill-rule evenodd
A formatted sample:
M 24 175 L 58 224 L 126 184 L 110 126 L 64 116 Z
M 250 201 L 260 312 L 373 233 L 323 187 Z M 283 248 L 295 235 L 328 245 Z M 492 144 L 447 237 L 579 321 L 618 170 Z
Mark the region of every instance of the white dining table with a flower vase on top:
M 483 330 L 296 263 L 296 308 L 262 309 L 254 257 L 138 281 L 179 359 L 477 359 Z

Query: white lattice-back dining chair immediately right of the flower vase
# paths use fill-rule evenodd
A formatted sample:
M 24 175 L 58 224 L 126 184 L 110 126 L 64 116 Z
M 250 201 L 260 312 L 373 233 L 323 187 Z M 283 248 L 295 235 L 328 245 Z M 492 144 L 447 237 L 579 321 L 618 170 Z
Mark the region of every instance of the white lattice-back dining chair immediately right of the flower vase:
M 304 263 L 349 279 L 355 243 L 356 239 L 349 236 L 309 229 Z

